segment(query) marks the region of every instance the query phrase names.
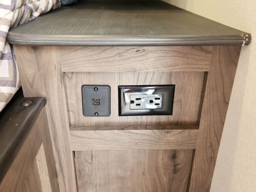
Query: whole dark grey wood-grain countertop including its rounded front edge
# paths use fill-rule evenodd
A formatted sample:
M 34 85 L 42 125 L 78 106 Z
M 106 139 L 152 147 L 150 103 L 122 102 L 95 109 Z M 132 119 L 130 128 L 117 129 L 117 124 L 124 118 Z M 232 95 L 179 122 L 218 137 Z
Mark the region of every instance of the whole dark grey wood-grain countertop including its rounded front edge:
M 158 0 L 81 1 L 12 28 L 7 41 L 33 46 L 248 45 L 251 35 Z

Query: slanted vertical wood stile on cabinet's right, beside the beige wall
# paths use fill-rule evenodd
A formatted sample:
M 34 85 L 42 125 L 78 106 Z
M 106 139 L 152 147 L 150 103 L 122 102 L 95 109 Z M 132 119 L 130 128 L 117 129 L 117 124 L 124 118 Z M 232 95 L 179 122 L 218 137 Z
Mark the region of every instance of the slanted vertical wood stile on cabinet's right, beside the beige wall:
M 241 47 L 213 47 L 189 192 L 210 191 Z

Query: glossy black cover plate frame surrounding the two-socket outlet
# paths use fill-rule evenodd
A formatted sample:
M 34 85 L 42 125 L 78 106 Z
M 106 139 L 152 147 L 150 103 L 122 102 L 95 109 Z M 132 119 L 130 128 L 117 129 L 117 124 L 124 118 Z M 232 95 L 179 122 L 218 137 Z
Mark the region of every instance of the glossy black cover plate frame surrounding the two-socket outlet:
M 172 115 L 175 85 L 128 85 L 118 86 L 118 115 Z M 130 95 L 163 94 L 161 109 L 131 109 Z

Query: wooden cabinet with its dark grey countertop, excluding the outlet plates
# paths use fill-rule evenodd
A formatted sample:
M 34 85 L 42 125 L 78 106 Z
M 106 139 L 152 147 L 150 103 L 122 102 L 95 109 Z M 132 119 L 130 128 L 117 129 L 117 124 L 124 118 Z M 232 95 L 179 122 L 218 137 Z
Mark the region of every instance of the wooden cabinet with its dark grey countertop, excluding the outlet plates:
M 157 1 L 77 4 L 8 40 L 24 95 L 47 98 L 60 191 L 209 191 L 250 34 Z M 111 87 L 110 116 L 83 116 L 83 84 Z M 176 85 L 173 115 L 118 116 L 117 86 L 150 84 Z

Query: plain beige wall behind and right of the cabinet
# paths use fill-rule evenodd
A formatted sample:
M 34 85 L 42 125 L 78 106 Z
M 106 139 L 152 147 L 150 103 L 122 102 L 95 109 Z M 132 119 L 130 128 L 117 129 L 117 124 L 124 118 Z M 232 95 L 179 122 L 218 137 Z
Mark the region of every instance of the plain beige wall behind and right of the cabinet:
M 256 38 L 256 0 L 164 0 Z M 241 51 L 211 192 L 256 191 L 256 42 Z

